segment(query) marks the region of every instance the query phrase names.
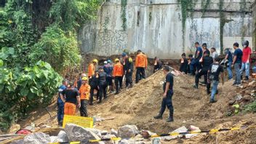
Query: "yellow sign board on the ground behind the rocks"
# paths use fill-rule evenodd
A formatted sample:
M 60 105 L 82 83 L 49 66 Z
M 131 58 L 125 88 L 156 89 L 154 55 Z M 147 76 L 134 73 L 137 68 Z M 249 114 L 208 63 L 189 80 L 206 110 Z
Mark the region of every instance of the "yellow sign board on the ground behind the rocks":
M 92 128 L 93 119 L 89 117 L 82 117 L 82 116 L 64 115 L 63 128 L 65 128 L 65 124 L 76 124 L 81 127 Z

